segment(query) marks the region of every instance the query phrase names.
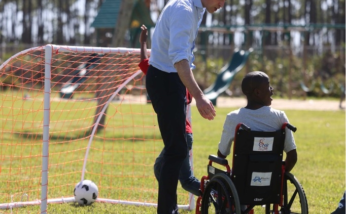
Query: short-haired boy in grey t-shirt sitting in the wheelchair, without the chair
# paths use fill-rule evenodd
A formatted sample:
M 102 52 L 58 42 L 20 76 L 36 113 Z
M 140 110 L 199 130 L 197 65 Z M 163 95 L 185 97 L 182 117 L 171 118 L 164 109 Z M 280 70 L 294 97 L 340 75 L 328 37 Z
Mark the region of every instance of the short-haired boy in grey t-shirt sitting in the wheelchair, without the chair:
M 227 114 L 219 143 L 219 157 L 226 158 L 230 154 L 238 123 L 249 125 L 251 130 L 275 131 L 281 129 L 283 123 L 288 122 L 285 112 L 269 107 L 273 90 L 269 77 L 264 72 L 253 71 L 245 75 L 241 82 L 241 91 L 247 97 L 248 104 Z M 297 162 L 296 144 L 291 131 L 286 132 L 284 151 L 286 152 L 285 171 L 290 172 Z

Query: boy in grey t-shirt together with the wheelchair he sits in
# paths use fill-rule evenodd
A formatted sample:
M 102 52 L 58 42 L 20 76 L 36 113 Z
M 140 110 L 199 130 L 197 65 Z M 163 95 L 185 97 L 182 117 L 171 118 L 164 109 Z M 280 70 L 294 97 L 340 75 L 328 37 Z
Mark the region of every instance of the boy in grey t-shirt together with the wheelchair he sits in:
M 292 134 L 296 128 L 284 111 L 269 107 L 273 88 L 268 75 L 261 71 L 246 74 L 241 90 L 247 106 L 226 116 L 218 156 L 209 156 L 208 175 L 201 179 L 196 214 L 252 214 L 256 205 L 265 205 L 265 214 L 307 214 L 303 188 L 289 173 L 297 162 Z M 232 142 L 230 166 L 225 158 Z

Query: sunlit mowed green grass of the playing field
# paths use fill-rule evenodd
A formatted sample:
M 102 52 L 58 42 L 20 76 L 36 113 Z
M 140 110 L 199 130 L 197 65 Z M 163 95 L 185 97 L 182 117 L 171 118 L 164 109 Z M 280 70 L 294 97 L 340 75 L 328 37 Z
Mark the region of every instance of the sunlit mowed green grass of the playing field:
M 112 107 L 112 106 L 111 106 Z M 133 111 L 135 108 L 133 105 L 122 104 L 123 111 Z M 126 110 L 128 108 L 128 110 Z M 151 106 L 147 105 L 143 108 L 145 111 L 151 111 Z M 192 107 L 192 124 L 194 131 L 194 144 L 193 144 L 193 164 L 194 173 L 197 178 L 201 178 L 206 174 L 207 157 L 210 154 L 216 154 L 218 149 L 218 142 L 220 140 L 221 132 L 223 129 L 223 122 L 226 114 L 234 110 L 232 108 L 216 108 L 217 117 L 208 121 L 203 119 L 196 107 Z M 295 175 L 298 181 L 302 184 L 307 200 L 310 213 L 330 213 L 336 207 L 345 190 L 345 112 L 344 111 L 303 111 L 303 110 L 286 110 L 285 111 L 290 122 L 298 128 L 298 131 L 294 134 L 297 144 L 298 162 L 292 174 Z M 146 113 L 146 112 L 144 112 Z M 54 116 L 54 114 L 52 114 Z M 54 118 L 52 119 L 54 120 Z M 90 117 L 92 120 L 92 116 Z M 142 117 L 132 117 L 131 122 L 133 124 L 146 124 L 143 122 Z M 135 130 L 131 131 L 135 132 Z M 155 133 L 153 133 L 155 131 Z M 148 130 L 148 135 L 157 136 L 157 130 Z M 141 131 L 139 131 L 141 132 Z M 114 133 L 107 133 L 102 137 L 114 138 Z M 141 132 L 139 135 L 143 136 Z M 126 136 L 125 136 L 126 137 Z M 6 138 L 3 138 L 3 140 Z M 75 139 L 78 141 L 77 139 Z M 96 140 L 97 141 L 97 140 Z M 3 142 L 4 143 L 4 142 Z M 103 144 L 106 145 L 106 144 Z M 152 143 L 153 147 L 150 148 L 150 143 L 146 144 L 146 150 L 152 152 L 149 160 L 150 162 L 155 160 L 155 155 L 159 152 L 159 145 Z M 121 147 L 122 145 L 120 145 Z M 35 146 L 32 149 L 40 150 L 40 146 Z M 51 148 L 50 148 L 51 149 Z M 72 148 L 71 148 L 72 149 Z M 73 148 L 76 149 L 76 148 Z M 135 151 L 139 148 L 130 148 Z M 106 151 L 117 151 L 118 149 L 105 148 Z M 32 151 L 35 153 L 35 151 Z M 59 153 L 59 151 L 55 151 Z M 109 155 L 111 156 L 111 155 Z M 59 155 L 50 156 L 50 162 L 54 162 L 54 158 L 67 158 Z M 71 158 L 71 157 L 69 157 Z M 83 156 L 82 156 L 83 158 Z M 116 157 L 113 157 L 116 158 Z M 148 157 L 147 157 L 148 158 Z M 40 158 L 39 158 L 40 159 Z M 230 160 L 230 159 L 229 159 Z M 142 160 L 141 160 L 142 161 Z M 97 163 L 92 163 L 93 167 L 97 166 Z M 107 164 L 106 164 L 107 165 Z M 80 165 L 70 166 L 80 170 Z M 108 167 L 108 166 L 102 166 Z M 113 167 L 111 164 L 109 167 Z M 132 172 L 133 164 L 126 164 L 121 166 L 123 172 Z M 126 168 L 128 167 L 128 168 Z M 151 167 L 149 167 L 151 168 Z M 146 170 L 146 173 L 150 169 Z M 52 170 L 61 170 L 56 167 Z M 105 169 L 103 169 L 105 170 Z M 148 171 L 148 172 L 147 172 Z M 80 175 L 80 173 L 78 174 Z M 59 178 L 63 179 L 63 178 Z M 57 179 L 58 180 L 58 179 Z M 124 179 L 126 180 L 126 179 Z M 52 182 L 52 179 L 50 180 Z M 114 181 L 110 180 L 109 183 Z M 124 181 L 125 182 L 125 181 Z M 152 182 L 152 180 L 150 180 Z M 0 187 L 4 185 L 0 183 Z M 141 190 L 145 185 L 143 182 L 133 183 L 133 189 Z M 138 185 L 138 186 L 136 186 Z M 150 184 L 151 185 L 151 184 Z M 107 187 L 107 182 L 102 183 L 102 187 Z M 99 187 L 100 188 L 100 187 Z M 100 188 L 102 190 L 102 188 Z M 71 192 L 62 192 L 61 195 L 71 196 Z M 142 193 L 138 193 L 142 194 Z M 152 193 L 148 193 L 152 194 Z M 112 197 L 118 197 L 117 193 L 109 193 Z M 118 199 L 118 198 L 116 198 Z M 120 198 L 121 199 L 121 198 Z M 0 201 L 2 203 L 2 201 Z M 107 204 L 107 203 L 93 203 L 90 206 L 79 206 L 77 203 L 64 203 L 64 204 L 48 204 L 48 213 L 156 213 L 155 207 L 146 206 L 133 206 L 133 205 L 121 205 L 121 204 Z M 15 208 L 13 213 L 39 213 L 39 206 L 26 206 L 22 208 Z M 181 213 L 194 213 L 194 210 L 180 210 Z M 0 210 L 0 213 L 11 213 L 11 210 Z M 255 213 L 264 213 L 264 208 L 256 207 Z

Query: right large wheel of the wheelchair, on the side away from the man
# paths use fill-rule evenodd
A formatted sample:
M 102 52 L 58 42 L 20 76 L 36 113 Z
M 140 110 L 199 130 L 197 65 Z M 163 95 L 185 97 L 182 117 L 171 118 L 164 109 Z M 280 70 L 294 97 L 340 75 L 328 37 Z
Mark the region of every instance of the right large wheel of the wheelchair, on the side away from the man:
M 285 173 L 283 186 L 284 202 L 279 207 L 282 214 L 308 214 L 307 199 L 303 187 L 291 173 Z M 272 213 L 272 207 L 265 206 L 265 214 Z

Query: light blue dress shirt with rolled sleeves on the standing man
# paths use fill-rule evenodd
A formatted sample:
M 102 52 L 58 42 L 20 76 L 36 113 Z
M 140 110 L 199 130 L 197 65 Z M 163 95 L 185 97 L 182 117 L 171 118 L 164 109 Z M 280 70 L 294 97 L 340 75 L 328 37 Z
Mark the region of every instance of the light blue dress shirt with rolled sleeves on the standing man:
M 171 73 L 187 60 L 194 69 L 193 49 L 205 8 L 201 0 L 170 0 L 162 10 L 152 36 L 149 64 Z

